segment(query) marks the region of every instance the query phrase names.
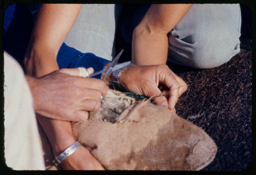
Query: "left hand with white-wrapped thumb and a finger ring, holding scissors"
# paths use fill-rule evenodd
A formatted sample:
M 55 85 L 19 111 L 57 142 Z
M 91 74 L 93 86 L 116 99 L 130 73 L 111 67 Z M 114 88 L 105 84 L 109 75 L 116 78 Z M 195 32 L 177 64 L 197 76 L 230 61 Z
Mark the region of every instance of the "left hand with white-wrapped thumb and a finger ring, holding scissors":
M 89 74 L 93 69 L 88 69 Z M 106 84 L 95 78 L 79 77 L 78 69 L 61 69 L 35 79 L 30 88 L 37 114 L 57 120 L 86 120 L 98 110 Z

